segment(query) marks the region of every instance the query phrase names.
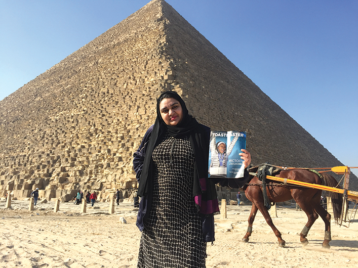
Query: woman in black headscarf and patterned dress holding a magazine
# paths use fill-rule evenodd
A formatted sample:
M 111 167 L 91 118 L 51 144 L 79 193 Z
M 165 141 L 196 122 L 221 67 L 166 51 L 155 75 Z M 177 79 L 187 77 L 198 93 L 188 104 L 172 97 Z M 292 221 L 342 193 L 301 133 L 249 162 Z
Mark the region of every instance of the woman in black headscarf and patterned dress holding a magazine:
M 205 267 L 219 213 L 208 178 L 210 128 L 188 114 L 175 92 L 158 98 L 156 114 L 133 160 L 142 197 L 138 267 Z M 249 165 L 250 153 L 243 157 Z

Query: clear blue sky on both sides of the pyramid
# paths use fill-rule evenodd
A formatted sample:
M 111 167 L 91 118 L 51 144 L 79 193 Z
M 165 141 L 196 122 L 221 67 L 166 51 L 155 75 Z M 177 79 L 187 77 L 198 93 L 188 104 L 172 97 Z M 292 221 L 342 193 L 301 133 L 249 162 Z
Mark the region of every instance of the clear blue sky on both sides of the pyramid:
M 0 100 L 148 1 L 0 0 Z M 358 166 L 358 1 L 167 2 L 343 164 Z

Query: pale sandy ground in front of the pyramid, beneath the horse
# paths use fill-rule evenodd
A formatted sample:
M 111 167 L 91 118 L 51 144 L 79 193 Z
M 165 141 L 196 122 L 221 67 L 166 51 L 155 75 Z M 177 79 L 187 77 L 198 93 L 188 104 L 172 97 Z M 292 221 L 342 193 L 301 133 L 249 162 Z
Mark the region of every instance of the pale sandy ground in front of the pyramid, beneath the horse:
M 34 211 L 28 211 L 28 202 L 13 200 L 6 209 L 4 198 L 0 201 L 0 267 L 136 267 L 141 234 L 132 204 L 121 203 L 109 214 L 109 203 L 87 207 L 88 213 L 81 213 L 81 205 L 61 203 L 55 213 L 54 202 L 38 203 Z M 227 219 L 215 217 L 216 241 L 208 244 L 208 268 L 358 267 L 358 220 L 349 228 L 333 224 L 327 250 L 321 247 L 324 223 L 319 218 L 308 234 L 309 244 L 302 247 L 304 212 L 277 208 L 273 222 L 286 240 L 280 248 L 260 213 L 250 242 L 241 242 L 250 210 L 251 205 L 228 205 Z

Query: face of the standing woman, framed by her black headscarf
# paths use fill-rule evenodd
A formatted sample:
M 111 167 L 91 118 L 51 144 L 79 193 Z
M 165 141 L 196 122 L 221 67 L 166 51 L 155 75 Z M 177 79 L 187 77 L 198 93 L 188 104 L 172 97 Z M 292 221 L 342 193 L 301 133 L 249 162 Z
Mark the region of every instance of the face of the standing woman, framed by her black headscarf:
M 159 104 L 159 110 L 167 125 L 177 125 L 183 120 L 183 109 L 174 98 L 163 99 Z

